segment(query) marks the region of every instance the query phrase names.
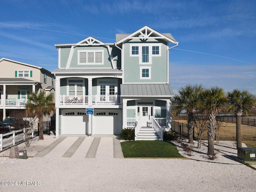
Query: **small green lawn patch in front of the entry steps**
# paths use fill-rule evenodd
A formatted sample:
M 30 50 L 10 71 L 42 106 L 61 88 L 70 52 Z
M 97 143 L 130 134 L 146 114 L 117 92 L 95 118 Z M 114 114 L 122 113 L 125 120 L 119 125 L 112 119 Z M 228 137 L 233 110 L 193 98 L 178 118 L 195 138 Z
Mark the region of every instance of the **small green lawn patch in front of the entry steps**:
M 121 146 L 125 158 L 184 158 L 166 141 L 125 141 Z

